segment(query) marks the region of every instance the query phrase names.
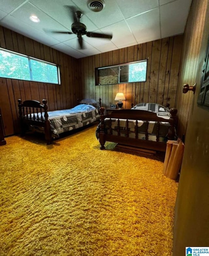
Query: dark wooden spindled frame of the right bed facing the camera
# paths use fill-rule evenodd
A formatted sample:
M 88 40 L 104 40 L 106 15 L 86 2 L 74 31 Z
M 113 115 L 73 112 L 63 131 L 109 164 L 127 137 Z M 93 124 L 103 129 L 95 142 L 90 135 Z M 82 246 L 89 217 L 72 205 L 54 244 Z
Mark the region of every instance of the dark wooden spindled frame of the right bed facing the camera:
M 100 133 L 99 133 L 99 142 L 100 142 L 100 149 L 105 149 L 105 142 L 115 142 L 119 145 L 126 145 L 132 146 L 136 148 L 144 148 L 156 151 L 166 151 L 167 144 L 165 142 L 159 141 L 159 129 L 160 123 L 159 122 L 168 122 L 169 123 L 169 131 L 168 131 L 168 139 L 174 140 L 175 138 L 175 125 L 176 125 L 176 114 L 177 109 L 170 109 L 170 119 L 164 119 L 162 117 L 158 117 L 156 113 L 151 111 L 145 110 L 120 110 L 120 111 L 112 111 L 109 115 L 104 115 L 105 108 L 100 108 Z M 109 133 L 105 133 L 105 118 L 110 118 L 109 124 Z M 118 120 L 118 131 L 117 135 L 112 135 L 112 128 L 111 128 L 111 119 Z M 120 119 L 126 119 L 126 136 L 121 136 L 120 132 Z M 129 137 L 128 131 L 128 119 L 129 120 L 136 120 L 135 126 L 135 138 Z M 145 121 L 146 122 L 146 131 L 145 131 L 145 140 L 138 138 L 138 121 Z M 148 140 L 148 125 L 149 121 L 157 122 L 157 132 L 156 132 L 156 141 Z

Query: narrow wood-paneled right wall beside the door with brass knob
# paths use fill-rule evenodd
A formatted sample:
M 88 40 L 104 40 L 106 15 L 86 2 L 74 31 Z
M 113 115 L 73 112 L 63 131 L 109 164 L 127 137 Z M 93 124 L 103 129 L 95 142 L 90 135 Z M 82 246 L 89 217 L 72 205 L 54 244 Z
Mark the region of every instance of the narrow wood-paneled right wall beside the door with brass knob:
M 176 107 L 178 109 L 178 135 L 186 134 L 190 110 L 193 106 L 194 94 L 182 93 L 185 83 L 193 86 L 196 81 L 200 47 L 202 41 L 202 27 L 205 22 L 205 13 L 208 0 L 192 1 L 184 32 L 182 61 L 178 81 Z M 196 91 L 196 93 L 199 93 Z

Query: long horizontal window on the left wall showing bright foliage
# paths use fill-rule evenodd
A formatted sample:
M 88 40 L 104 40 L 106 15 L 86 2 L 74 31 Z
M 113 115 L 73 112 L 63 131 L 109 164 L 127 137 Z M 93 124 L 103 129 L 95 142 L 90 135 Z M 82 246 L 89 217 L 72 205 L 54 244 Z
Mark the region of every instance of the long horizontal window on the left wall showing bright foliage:
M 60 84 L 56 64 L 0 48 L 0 77 Z

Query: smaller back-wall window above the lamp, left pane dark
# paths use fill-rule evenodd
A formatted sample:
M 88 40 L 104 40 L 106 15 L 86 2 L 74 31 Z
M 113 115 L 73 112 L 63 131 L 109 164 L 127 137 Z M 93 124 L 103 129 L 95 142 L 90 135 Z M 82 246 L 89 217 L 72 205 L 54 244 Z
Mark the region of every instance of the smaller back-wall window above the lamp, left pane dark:
M 96 69 L 96 85 L 146 82 L 147 60 Z

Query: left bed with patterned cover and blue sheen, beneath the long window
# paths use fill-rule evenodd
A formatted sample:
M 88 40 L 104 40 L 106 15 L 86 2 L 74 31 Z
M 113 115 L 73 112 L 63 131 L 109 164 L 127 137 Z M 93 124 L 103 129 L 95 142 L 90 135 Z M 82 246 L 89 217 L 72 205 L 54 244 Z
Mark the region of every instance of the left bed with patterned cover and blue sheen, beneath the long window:
M 47 100 L 42 100 L 43 105 L 36 100 L 18 99 L 19 120 L 21 136 L 30 128 L 33 131 L 44 133 L 47 145 L 53 138 L 58 138 L 60 133 L 86 126 L 100 119 L 98 103 L 93 99 L 83 99 L 72 109 L 47 111 Z

